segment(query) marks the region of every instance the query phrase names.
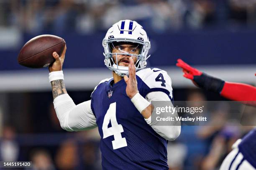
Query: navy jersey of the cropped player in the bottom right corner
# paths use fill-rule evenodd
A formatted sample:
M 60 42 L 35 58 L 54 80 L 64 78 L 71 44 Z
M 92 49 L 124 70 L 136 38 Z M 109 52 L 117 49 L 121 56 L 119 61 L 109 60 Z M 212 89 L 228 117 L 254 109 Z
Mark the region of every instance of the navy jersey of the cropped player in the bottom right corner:
M 243 137 L 238 148 L 244 158 L 256 168 L 256 128 Z

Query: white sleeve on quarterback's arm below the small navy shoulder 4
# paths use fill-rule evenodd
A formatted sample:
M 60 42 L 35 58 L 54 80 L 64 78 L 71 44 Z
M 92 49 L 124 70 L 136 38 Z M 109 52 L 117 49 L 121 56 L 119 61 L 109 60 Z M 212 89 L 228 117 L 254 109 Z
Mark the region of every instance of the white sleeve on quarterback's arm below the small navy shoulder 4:
M 149 102 L 151 101 L 165 101 L 167 102 L 167 105 L 170 105 L 173 107 L 172 102 L 168 95 L 164 92 L 150 92 L 146 95 L 146 100 Z M 168 115 L 169 116 L 169 115 Z M 175 112 L 172 117 L 178 116 L 177 112 Z M 167 116 L 166 116 L 167 117 Z M 151 117 L 148 117 L 148 119 L 145 119 L 148 125 L 150 125 L 157 134 L 159 134 L 161 137 L 163 137 L 166 140 L 175 140 L 181 130 L 180 122 L 177 121 L 170 121 L 170 125 L 161 125 L 161 121 L 152 121 L 151 122 Z

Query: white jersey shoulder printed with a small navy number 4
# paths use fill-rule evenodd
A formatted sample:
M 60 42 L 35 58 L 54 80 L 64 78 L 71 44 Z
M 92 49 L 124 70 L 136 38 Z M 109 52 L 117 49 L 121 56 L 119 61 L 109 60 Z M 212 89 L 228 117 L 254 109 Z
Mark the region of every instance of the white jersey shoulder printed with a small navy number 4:
M 154 91 L 165 89 L 172 97 L 172 80 L 166 71 L 154 67 L 145 68 L 136 72 L 136 75 L 150 89 L 155 89 Z

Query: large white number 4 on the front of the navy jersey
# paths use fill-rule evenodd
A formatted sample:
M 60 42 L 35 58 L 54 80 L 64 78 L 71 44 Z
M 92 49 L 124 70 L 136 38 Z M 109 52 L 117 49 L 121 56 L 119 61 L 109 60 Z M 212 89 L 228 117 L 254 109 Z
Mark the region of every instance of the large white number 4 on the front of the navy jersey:
M 118 124 L 118 122 L 116 121 L 115 108 L 116 102 L 111 103 L 103 120 L 102 131 L 103 139 L 114 135 L 115 140 L 112 141 L 113 149 L 118 149 L 127 146 L 127 143 L 126 139 L 122 138 L 121 135 L 121 133 L 123 132 L 123 126 L 121 124 Z M 110 121 L 112 127 L 108 128 L 108 124 Z

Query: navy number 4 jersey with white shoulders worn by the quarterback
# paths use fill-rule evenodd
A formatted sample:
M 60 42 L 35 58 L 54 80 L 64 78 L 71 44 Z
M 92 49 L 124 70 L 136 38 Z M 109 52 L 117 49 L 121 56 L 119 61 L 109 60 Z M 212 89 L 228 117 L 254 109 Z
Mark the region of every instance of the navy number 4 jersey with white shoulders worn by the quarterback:
M 146 68 L 136 72 L 138 90 L 143 97 L 162 91 L 172 99 L 169 75 Z M 101 136 L 102 169 L 168 170 L 167 141 L 158 135 L 126 95 L 122 79 L 102 80 L 91 96 L 91 108 Z

